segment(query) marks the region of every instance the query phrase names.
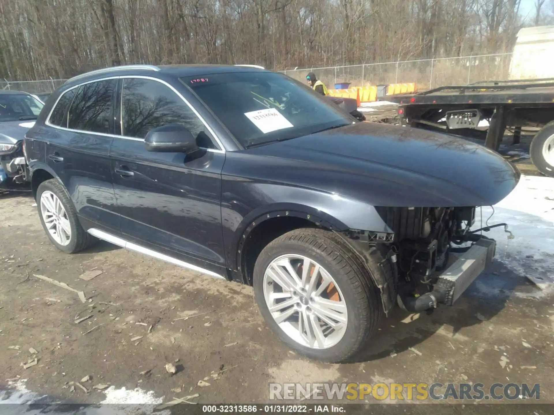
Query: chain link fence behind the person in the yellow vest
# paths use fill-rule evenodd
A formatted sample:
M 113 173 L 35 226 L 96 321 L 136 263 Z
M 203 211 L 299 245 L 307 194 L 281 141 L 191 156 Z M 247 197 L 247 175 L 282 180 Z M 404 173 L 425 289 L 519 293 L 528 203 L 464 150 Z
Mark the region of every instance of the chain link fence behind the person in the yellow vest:
M 350 82 L 352 86 L 416 82 L 421 91 L 443 85 L 467 85 L 477 81 L 509 79 L 511 56 L 511 53 L 500 53 L 280 72 L 301 82 L 306 81 L 308 72 L 315 72 L 317 79 L 329 88 L 346 82 Z

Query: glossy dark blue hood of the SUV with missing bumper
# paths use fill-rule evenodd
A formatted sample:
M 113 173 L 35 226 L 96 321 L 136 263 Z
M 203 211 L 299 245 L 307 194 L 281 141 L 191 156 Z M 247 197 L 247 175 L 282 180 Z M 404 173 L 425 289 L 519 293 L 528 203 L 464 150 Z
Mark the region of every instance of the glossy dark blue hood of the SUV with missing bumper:
M 504 199 L 520 177 L 499 154 L 479 144 L 370 122 L 253 150 L 289 159 L 291 169 L 279 173 L 285 181 L 373 206 L 489 206 Z

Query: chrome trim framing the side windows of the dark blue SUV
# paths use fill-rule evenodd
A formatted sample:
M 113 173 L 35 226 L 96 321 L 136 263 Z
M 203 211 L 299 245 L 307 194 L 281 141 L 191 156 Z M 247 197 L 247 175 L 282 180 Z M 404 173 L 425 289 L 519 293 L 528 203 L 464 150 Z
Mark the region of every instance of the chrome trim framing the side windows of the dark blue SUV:
M 49 126 L 49 127 L 52 127 L 52 128 L 57 128 L 57 129 L 61 129 L 61 130 L 64 130 L 64 131 L 71 131 L 71 132 L 77 132 L 77 133 L 85 133 L 85 134 L 94 134 L 95 136 L 103 136 L 103 137 L 112 137 L 112 138 L 124 138 L 126 140 L 133 140 L 133 141 L 144 141 L 143 138 L 136 138 L 136 137 L 126 137 L 126 136 L 120 136 L 120 135 L 117 135 L 117 134 L 106 134 L 106 133 L 97 133 L 97 132 L 93 132 L 93 131 L 84 131 L 84 130 L 81 130 L 81 129 L 73 129 L 73 128 L 65 128 L 65 127 L 60 127 L 60 126 L 56 126 L 56 125 L 53 125 L 52 123 L 50 123 L 50 117 L 52 117 L 52 112 L 54 112 L 54 108 L 58 105 L 58 102 L 60 100 L 60 98 L 66 94 L 67 92 L 75 89 L 75 88 L 78 88 L 80 86 L 83 86 L 83 85 L 86 85 L 86 84 L 91 84 L 92 82 L 100 82 L 100 81 L 107 81 L 107 80 L 110 80 L 110 79 L 130 79 L 130 78 L 138 78 L 138 79 L 150 79 L 152 81 L 157 81 L 157 82 L 160 82 L 160 84 L 163 84 L 163 85 L 166 85 L 168 86 L 173 92 L 175 92 L 175 94 L 177 94 L 177 96 L 179 98 L 181 98 L 181 100 L 183 100 L 184 103 L 186 103 L 186 105 L 191 108 L 192 112 L 194 112 L 194 114 L 200 119 L 200 121 L 202 121 L 204 127 L 206 127 L 208 129 L 208 131 L 212 134 L 213 138 L 216 140 L 216 143 L 217 145 L 221 148 L 221 149 L 216 149 L 216 148 L 206 148 L 206 151 L 209 151 L 211 153 L 222 153 L 224 154 L 225 153 L 225 147 L 223 146 L 223 143 L 220 141 L 219 137 L 217 136 L 217 134 L 213 131 L 213 129 L 208 125 L 208 123 L 206 122 L 206 120 L 204 120 L 204 118 L 198 113 L 198 111 L 196 111 L 196 109 L 191 105 L 191 103 L 189 103 L 186 98 L 184 98 L 180 93 L 179 91 L 177 91 L 175 89 L 175 87 L 173 87 L 172 85 L 168 84 L 168 82 L 166 81 L 163 81 L 161 79 L 157 79 L 155 77 L 152 77 L 152 76 L 144 76 L 144 75 L 122 75 L 122 76 L 109 76 L 109 77 L 105 77 L 105 78 L 99 78 L 99 79 L 94 79 L 94 80 L 91 80 L 91 81 L 86 81 L 86 82 L 82 82 L 81 84 L 78 84 L 78 85 L 74 85 L 70 88 L 68 88 L 67 90 L 65 90 L 63 92 L 63 94 L 60 94 L 60 96 L 58 97 L 58 99 L 56 100 L 56 102 L 54 103 L 54 105 L 52 106 L 52 108 L 50 109 L 50 112 L 48 113 L 48 117 L 46 118 L 46 121 L 44 122 L 45 125 Z M 123 94 L 123 89 L 121 89 L 121 94 Z M 121 98 L 123 98 L 123 95 L 121 95 Z M 122 105 L 123 105 L 123 100 L 121 100 L 121 106 L 120 106 L 120 111 L 122 111 Z M 68 118 L 69 120 L 69 118 Z M 121 117 L 121 121 L 123 120 L 123 118 Z M 121 131 L 123 131 L 123 129 L 121 128 Z

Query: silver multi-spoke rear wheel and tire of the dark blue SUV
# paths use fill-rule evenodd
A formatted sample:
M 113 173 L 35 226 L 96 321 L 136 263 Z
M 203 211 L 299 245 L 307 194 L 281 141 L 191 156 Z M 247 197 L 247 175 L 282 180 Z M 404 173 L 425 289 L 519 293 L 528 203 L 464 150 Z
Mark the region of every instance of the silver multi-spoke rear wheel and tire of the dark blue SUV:
M 60 251 L 79 252 L 95 242 L 79 223 L 75 206 L 58 180 L 40 183 L 37 209 L 48 239 Z

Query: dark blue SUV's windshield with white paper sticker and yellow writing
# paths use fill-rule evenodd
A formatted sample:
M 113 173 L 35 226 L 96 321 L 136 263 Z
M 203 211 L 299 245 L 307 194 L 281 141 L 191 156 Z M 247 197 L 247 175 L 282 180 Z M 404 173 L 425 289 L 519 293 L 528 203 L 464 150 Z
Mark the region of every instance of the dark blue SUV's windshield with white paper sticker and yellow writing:
M 323 96 L 274 72 L 228 72 L 181 82 L 245 148 L 352 123 Z

